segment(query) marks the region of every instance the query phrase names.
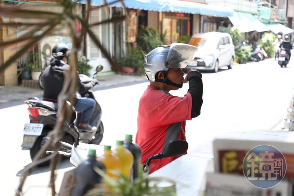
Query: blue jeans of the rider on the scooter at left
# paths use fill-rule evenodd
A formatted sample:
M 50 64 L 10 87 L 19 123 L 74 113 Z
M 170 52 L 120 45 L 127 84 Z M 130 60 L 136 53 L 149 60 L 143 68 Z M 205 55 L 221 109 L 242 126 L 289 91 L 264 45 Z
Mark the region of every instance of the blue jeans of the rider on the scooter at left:
M 74 106 L 77 112 L 81 113 L 80 123 L 89 124 L 91 116 L 96 106 L 96 101 L 92 98 L 79 97 L 77 103 Z

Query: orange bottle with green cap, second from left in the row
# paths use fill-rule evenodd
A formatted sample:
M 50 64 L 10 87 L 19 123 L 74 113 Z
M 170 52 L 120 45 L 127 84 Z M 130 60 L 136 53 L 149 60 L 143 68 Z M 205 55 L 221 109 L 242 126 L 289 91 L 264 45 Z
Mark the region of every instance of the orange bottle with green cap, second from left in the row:
M 110 178 L 119 178 L 118 175 L 114 174 L 113 171 L 115 170 L 120 172 L 121 162 L 119 157 L 116 156 L 114 153 L 111 152 L 111 146 L 104 145 L 104 154 L 98 157 L 101 160 L 105 167 L 106 167 L 106 175 Z

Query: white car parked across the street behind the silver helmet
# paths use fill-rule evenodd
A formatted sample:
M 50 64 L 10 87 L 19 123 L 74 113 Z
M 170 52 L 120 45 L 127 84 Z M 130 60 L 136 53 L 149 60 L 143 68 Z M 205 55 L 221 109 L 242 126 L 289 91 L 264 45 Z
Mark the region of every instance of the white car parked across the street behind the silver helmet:
M 220 32 L 195 34 L 188 44 L 198 47 L 195 58 L 188 66 L 212 72 L 217 72 L 219 67 L 223 66 L 228 66 L 228 69 L 232 69 L 235 48 L 230 34 Z

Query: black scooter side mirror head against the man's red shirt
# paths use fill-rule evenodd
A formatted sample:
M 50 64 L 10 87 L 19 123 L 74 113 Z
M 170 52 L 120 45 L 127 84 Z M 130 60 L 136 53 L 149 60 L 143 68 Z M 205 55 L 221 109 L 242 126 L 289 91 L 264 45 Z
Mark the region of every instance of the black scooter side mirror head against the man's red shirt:
M 164 157 L 179 156 L 188 150 L 188 142 L 185 140 L 171 140 L 163 148 Z

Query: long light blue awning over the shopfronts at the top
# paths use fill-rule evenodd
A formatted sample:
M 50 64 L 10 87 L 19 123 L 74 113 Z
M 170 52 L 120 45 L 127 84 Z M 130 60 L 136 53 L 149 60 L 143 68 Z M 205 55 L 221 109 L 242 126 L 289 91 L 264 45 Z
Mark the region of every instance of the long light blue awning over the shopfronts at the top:
M 114 0 L 107 0 L 108 3 Z M 92 6 L 104 4 L 103 0 L 92 0 Z M 180 1 L 180 0 L 124 0 L 127 8 L 143 9 L 158 12 L 177 12 L 202 14 L 217 17 L 233 16 L 233 9 L 219 6 L 210 6 L 202 3 Z M 112 6 L 122 7 L 121 3 L 115 3 Z

